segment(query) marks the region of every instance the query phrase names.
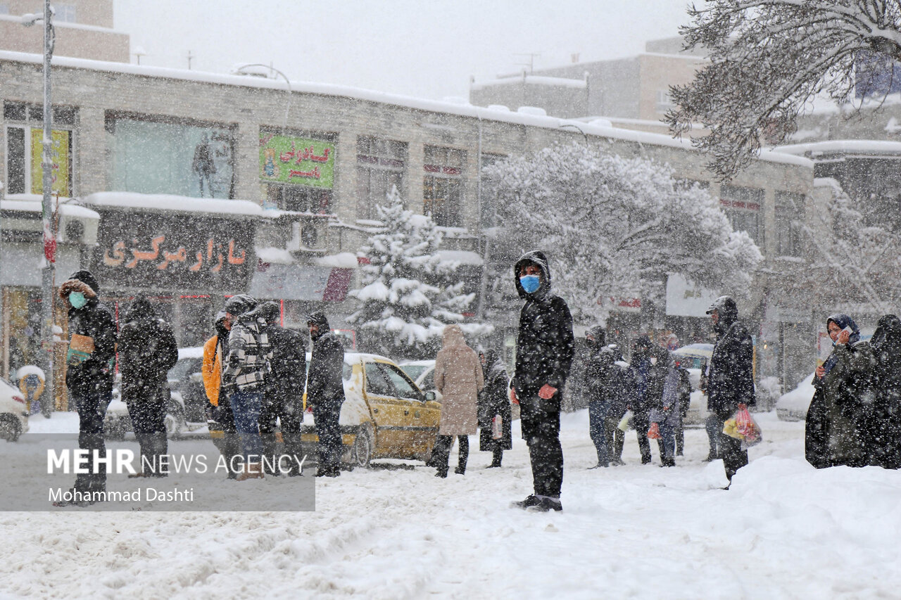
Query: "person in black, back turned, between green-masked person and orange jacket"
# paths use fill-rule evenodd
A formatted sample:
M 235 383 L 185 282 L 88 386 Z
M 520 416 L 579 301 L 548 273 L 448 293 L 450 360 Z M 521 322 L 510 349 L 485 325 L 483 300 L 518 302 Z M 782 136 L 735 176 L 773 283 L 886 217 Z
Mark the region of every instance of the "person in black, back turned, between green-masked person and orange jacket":
M 159 457 L 168 451 L 167 380 L 178 361 L 175 334 L 143 296 L 135 298 L 123 321 L 118 346 L 122 399 L 141 445 L 141 471 L 129 477 L 166 477 Z

